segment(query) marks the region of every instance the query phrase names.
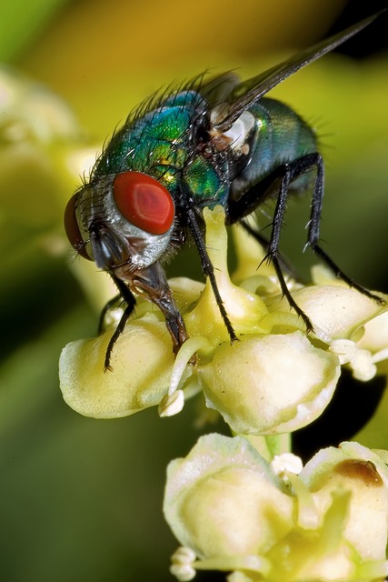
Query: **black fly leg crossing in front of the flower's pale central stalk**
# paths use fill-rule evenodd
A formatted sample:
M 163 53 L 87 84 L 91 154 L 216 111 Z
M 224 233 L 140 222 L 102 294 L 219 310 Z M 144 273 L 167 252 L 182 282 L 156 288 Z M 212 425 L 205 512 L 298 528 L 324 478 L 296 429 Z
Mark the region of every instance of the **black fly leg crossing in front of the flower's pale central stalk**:
M 214 276 L 214 266 L 212 261 L 210 260 L 209 255 L 207 254 L 206 246 L 204 244 L 204 236 L 200 226 L 198 225 L 198 218 L 195 214 L 195 211 L 192 207 L 186 208 L 186 216 L 187 216 L 187 224 L 190 228 L 191 234 L 194 238 L 194 243 L 198 249 L 199 256 L 201 258 L 201 265 L 204 271 L 204 275 L 209 277 L 210 285 L 212 286 L 215 301 L 217 302 L 217 306 L 220 310 L 220 314 L 224 320 L 224 325 L 228 331 L 229 337 L 231 338 L 232 342 L 237 340 L 237 336 L 234 333 L 234 328 L 231 324 L 231 321 L 226 313 L 226 309 L 224 307 L 223 298 L 218 290 L 217 282 Z

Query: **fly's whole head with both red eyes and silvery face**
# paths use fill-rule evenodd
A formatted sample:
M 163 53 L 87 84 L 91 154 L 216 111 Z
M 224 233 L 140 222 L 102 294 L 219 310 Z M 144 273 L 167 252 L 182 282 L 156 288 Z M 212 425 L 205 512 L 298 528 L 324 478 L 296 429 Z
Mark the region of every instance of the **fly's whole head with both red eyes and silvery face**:
M 151 266 L 167 249 L 174 201 L 151 176 L 123 172 L 83 186 L 65 210 L 65 230 L 79 255 L 117 276 Z

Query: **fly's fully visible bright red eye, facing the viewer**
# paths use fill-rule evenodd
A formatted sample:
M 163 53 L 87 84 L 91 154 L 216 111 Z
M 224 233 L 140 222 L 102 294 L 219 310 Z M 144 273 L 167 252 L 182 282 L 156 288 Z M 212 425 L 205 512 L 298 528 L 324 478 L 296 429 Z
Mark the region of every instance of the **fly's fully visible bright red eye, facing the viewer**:
M 164 235 L 174 222 L 174 201 L 169 191 L 140 172 L 114 178 L 114 202 L 132 225 L 150 235 Z

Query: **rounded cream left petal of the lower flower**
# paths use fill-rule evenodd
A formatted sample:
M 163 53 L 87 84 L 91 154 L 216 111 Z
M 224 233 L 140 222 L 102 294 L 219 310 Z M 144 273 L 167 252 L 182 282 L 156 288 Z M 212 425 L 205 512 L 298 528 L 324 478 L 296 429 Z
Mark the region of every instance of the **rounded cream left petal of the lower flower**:
M 168 467 L 164 516 L 199 557 L 260 554 L 286 534 L 292 514 L 284 483 L 243 437 L 202 437 Z

